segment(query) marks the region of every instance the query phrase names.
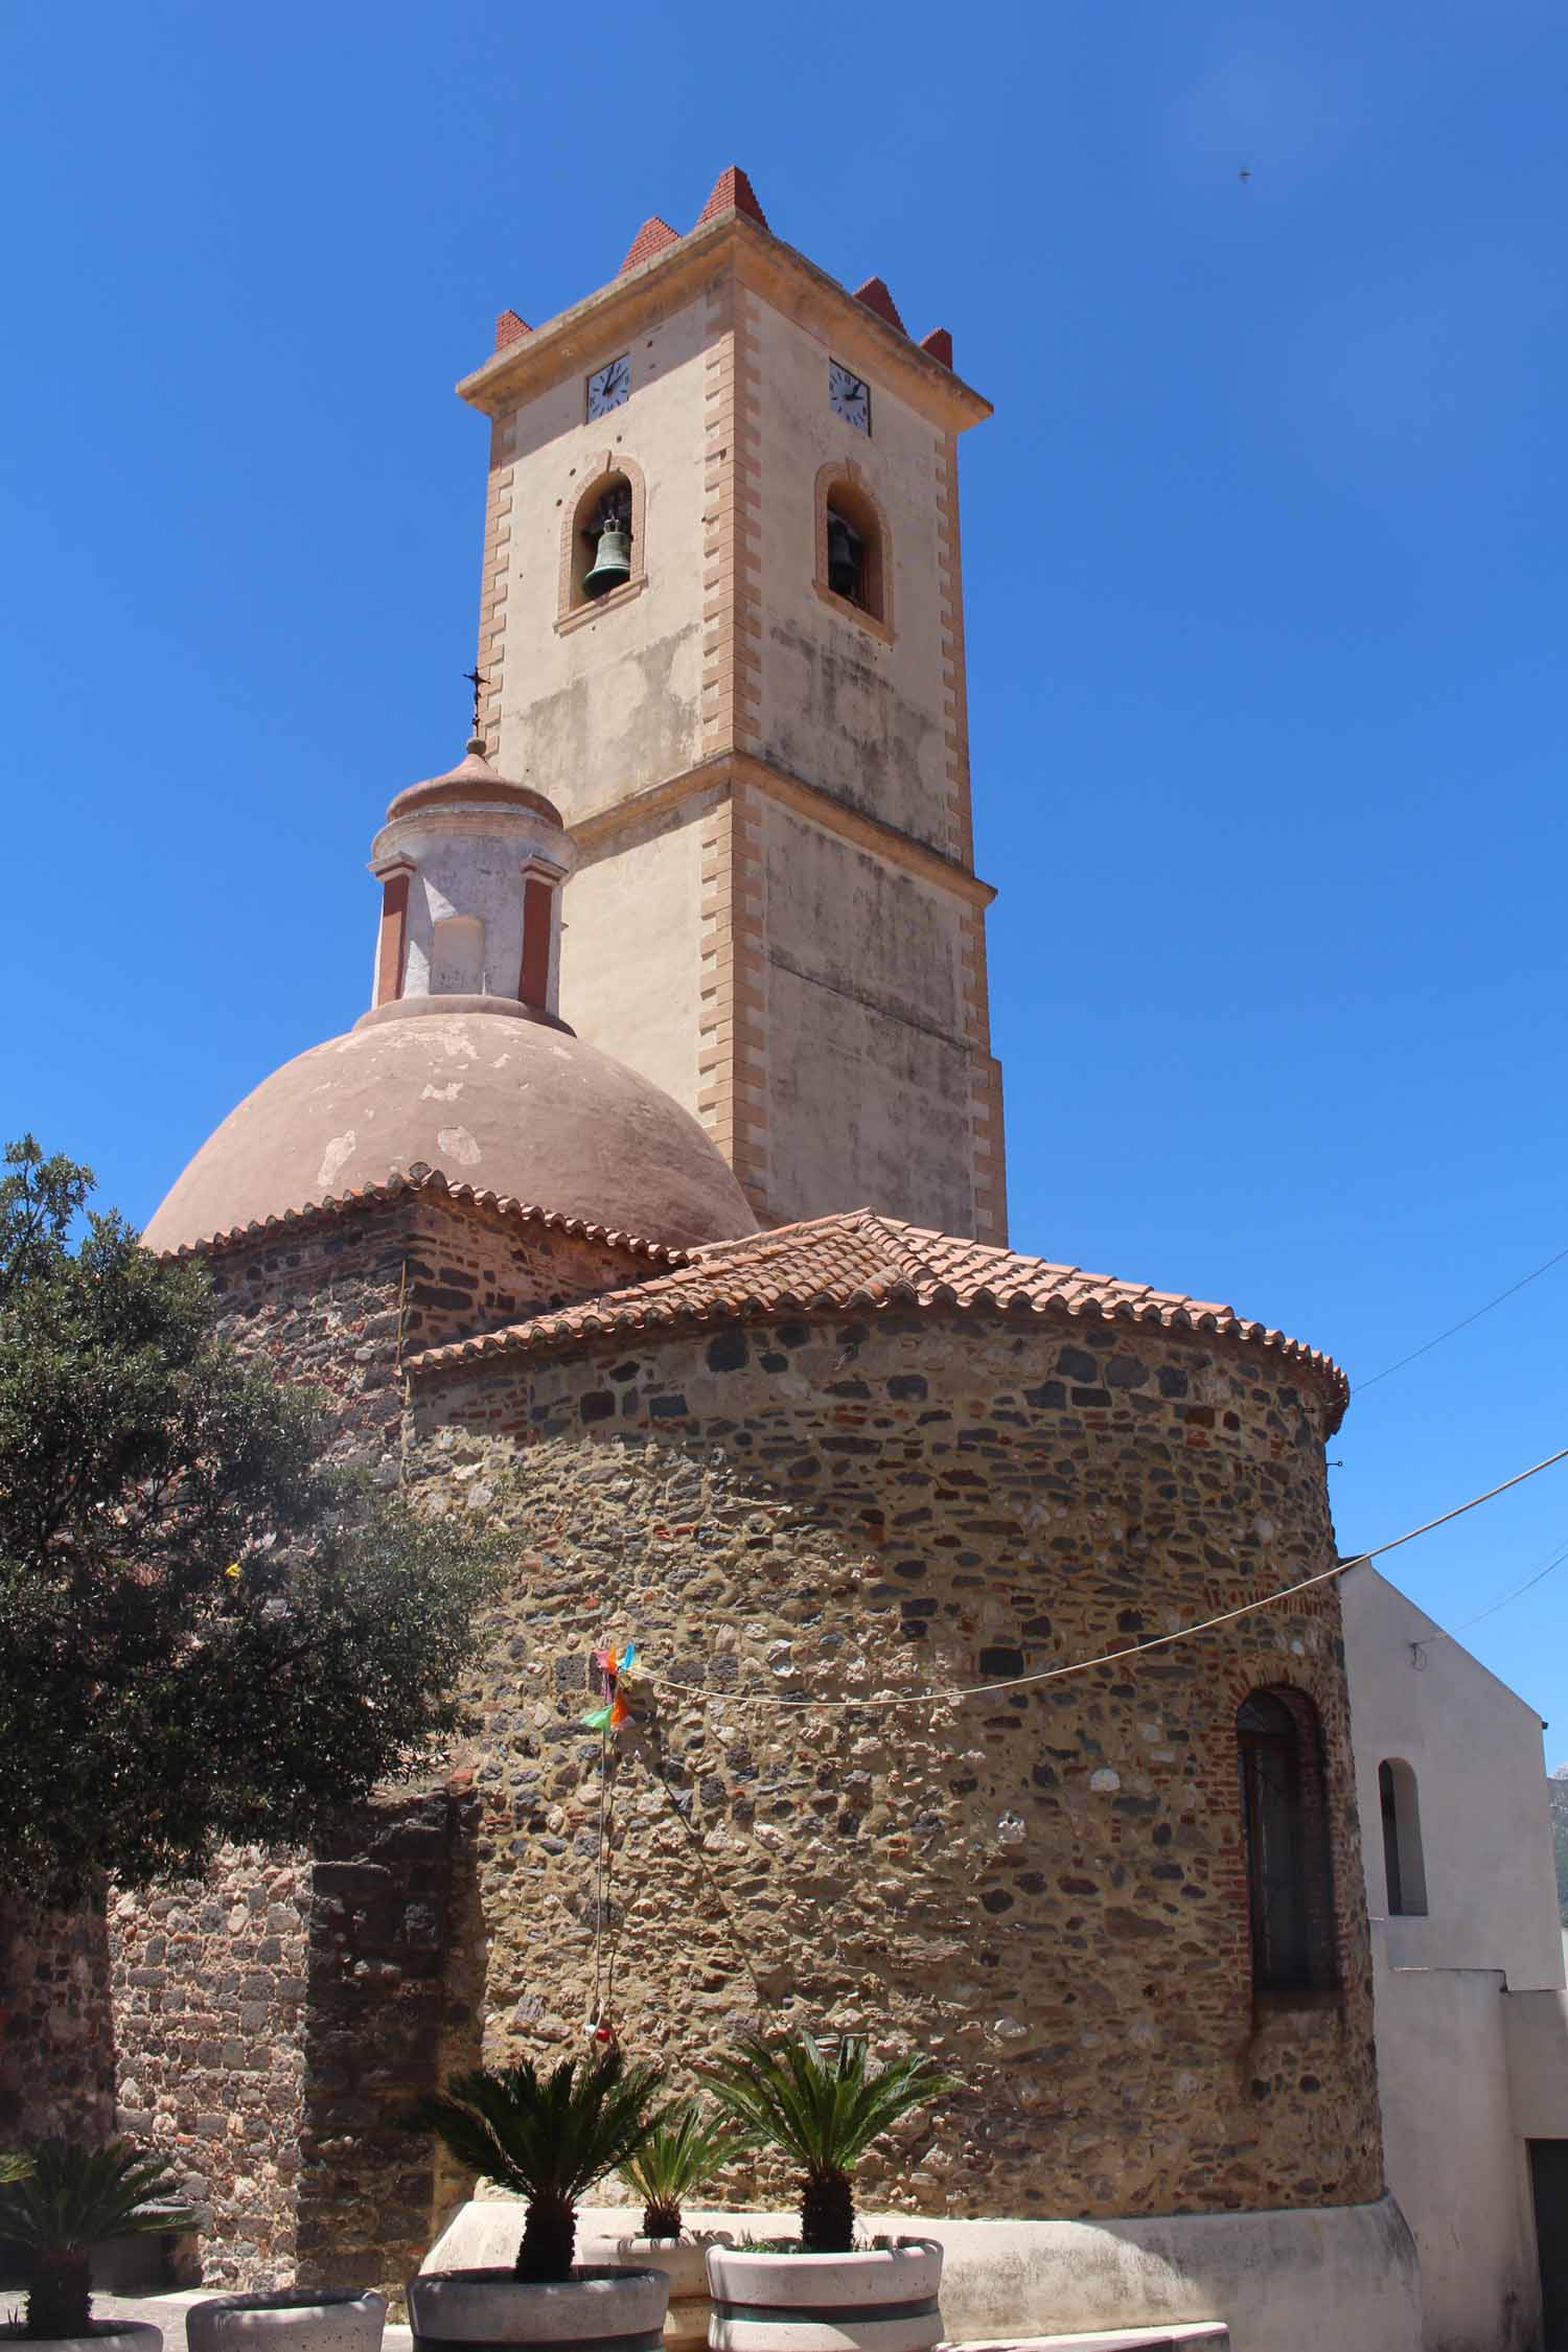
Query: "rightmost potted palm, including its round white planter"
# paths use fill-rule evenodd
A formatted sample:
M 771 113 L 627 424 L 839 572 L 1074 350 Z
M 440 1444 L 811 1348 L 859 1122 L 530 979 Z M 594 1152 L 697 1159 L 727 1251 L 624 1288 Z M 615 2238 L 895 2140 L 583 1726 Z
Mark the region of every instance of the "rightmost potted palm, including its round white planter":
M 712 2343 L 722 2352 L 811 2352 L 823 2328 L 863 2352 L 940 2343 L 943 2249 L 933 2237 L 856 2246 L 856 2164 L 903 2114 L 952 2089 L 929 2058 L 872 2070 L 865 2039 L 827 2058 L 804 2034 L 748 2034 L 705 2067 L 724 2112 L 799 2173 L 797 2246 L 710 2246 Z

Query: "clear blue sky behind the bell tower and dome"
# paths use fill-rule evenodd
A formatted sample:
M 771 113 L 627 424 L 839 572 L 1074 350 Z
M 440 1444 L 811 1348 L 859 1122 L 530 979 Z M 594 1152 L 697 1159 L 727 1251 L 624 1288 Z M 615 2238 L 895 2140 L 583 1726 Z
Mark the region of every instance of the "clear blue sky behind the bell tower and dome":
M 465 722 L 494 313 L 729 162 L 964 445 L 1013 1242 L 1371 1376 L 1568 1244 L 1556 0 L 14 0 L 5 1131 L 127 1214 L 367 993 Z M 1248 179 L 1241 179 L 1248 172 Z M 1352 1406 L 1345 1550 L 1568 1442 L 1568 1263 Z M 1443 1623 L 1568 1465 L 1410 1545 Z M 1568 1757 L 1568 1564 L 1469 1635 Z

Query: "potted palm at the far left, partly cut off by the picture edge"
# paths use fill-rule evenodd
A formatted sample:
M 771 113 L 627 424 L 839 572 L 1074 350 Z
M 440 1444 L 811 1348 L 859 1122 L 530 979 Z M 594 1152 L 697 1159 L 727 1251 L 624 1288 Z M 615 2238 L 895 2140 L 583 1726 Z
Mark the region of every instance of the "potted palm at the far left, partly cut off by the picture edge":
M 47 2140 L 28 2157 L 7 2159 L 0 2237 L 28 2256 L 28 2300 L 21 2321 L 0 2326 L 0 2338 L 162 2352 L 162 2328 L 92 2317 L 89 2253 L 110 2237 L 195 2230 L 197 2216 L 172 2201 L 176 2185 L 162 2157 L 141 2154 L 129 2140 L 106 2147 Z

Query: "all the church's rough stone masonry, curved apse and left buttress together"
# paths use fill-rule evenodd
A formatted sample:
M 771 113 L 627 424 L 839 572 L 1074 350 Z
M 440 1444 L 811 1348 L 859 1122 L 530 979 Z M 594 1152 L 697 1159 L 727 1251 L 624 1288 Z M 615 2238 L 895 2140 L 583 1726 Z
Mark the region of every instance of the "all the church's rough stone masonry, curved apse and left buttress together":
M 207 2204 L 207 2277 L 395 2284 L 470 2190 L 397 2129 L 409 2096 L 477 2056 L 571 2053 L 597 2004 L 682 2084 L 741 2025 L 929 2049 L 957 2089 L 870 2159 L 882 2206 L 1375 2197 L 1335 1585 L 950 1696 L 1331 1564 L 1309 1367 L 957 1310 L 454 1364 L 430 1352 L 442 1265 L 503 1322 L 527 1279 L 541 1305 L 595 1289 L 592 1251 L 562 1242 L 529 1277 L 508 1244 L 503 1282 L 484 1218 L 418 1214 L 430 1230 L 376 1204 L 219 1261 L 242 1345 L 327 1367 L 346 1442 L 421 1508 L 501 1519 L 515 1569 L 440 1785 L 388 1792 L 331 1856 L 228 1856 L 207 1889 L 110 1905 L 120 2119 Z M 473 1301 L 447 1329 L 484 1319 Z M 646 1672 L 602 1877 L 581 1715 L 607 1635 Z M 1234 1717 L 1260 1684 L 1321 1719 L 1338 1985 L 1307 1994 L 1251 1980 Z M 89 1945 L 71 1966 L 80 2011 L 103 1969 Z M 783 2176 L 726 2187 L 773 2199 Z

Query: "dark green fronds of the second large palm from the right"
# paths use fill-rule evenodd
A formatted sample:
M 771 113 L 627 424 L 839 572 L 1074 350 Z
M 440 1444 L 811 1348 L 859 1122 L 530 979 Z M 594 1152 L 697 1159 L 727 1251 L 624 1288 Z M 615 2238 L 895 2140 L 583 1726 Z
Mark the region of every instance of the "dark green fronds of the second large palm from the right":
M 564 2058 L 541 2074 L 529 2058 L 510 2067 L 454 2074 L 404 2117 L 433 2131 L 468 2171 L 527 2199 L 576 2201 L 614 2173 L 665 2119 L 654 2110 L 656 2065 L 628 2065 L 621 2051 Z

